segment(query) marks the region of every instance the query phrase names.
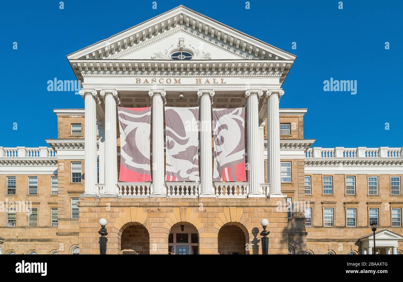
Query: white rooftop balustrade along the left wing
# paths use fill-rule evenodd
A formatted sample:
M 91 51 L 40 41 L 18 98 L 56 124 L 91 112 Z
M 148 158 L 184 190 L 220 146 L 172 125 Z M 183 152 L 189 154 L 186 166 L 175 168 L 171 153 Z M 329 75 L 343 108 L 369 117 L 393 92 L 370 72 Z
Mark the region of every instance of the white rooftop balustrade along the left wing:
M 56 151 L 49 147 L 0 147 L 0 158 L 56 158 Z

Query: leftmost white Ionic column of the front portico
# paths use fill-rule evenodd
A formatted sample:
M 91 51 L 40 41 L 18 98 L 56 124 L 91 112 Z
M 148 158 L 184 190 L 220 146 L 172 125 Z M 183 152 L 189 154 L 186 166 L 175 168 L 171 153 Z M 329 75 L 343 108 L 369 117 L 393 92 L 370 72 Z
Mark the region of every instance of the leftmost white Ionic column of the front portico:
M 96 102 L 100 104 L 97 91 L 81 89 L 80 95 L 85 103 L 84 126 L 84 195 L 97 195 L 97 121 Z

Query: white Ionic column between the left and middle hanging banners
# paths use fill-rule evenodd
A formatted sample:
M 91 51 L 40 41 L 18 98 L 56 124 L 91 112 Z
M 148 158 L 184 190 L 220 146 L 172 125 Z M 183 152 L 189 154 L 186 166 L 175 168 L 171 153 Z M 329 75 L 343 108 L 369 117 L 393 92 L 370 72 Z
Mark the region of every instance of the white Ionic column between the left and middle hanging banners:
M 150 197 L 166 197 L 164 187 L 164 104 L 166 92 L 151 90 L 152 100 L 152 183 Z

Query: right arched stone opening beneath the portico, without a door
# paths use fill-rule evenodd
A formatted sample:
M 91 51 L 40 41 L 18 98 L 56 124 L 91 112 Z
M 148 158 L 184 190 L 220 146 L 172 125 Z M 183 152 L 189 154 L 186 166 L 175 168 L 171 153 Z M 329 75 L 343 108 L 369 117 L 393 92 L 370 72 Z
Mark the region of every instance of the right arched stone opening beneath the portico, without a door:
M 218 253 L 220 255 L 246 255 L 249 253 L 246 243 L 247 234 L 236 225 L 225 224 L 218 232 Z

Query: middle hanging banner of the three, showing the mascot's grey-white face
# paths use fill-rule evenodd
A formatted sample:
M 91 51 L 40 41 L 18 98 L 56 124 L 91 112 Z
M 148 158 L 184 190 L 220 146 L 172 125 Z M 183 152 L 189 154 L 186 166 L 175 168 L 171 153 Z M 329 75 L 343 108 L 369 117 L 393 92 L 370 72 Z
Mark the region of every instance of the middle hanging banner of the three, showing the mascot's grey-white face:
M 166 181 L 199 181 L 199 107 L 165 107 Z

